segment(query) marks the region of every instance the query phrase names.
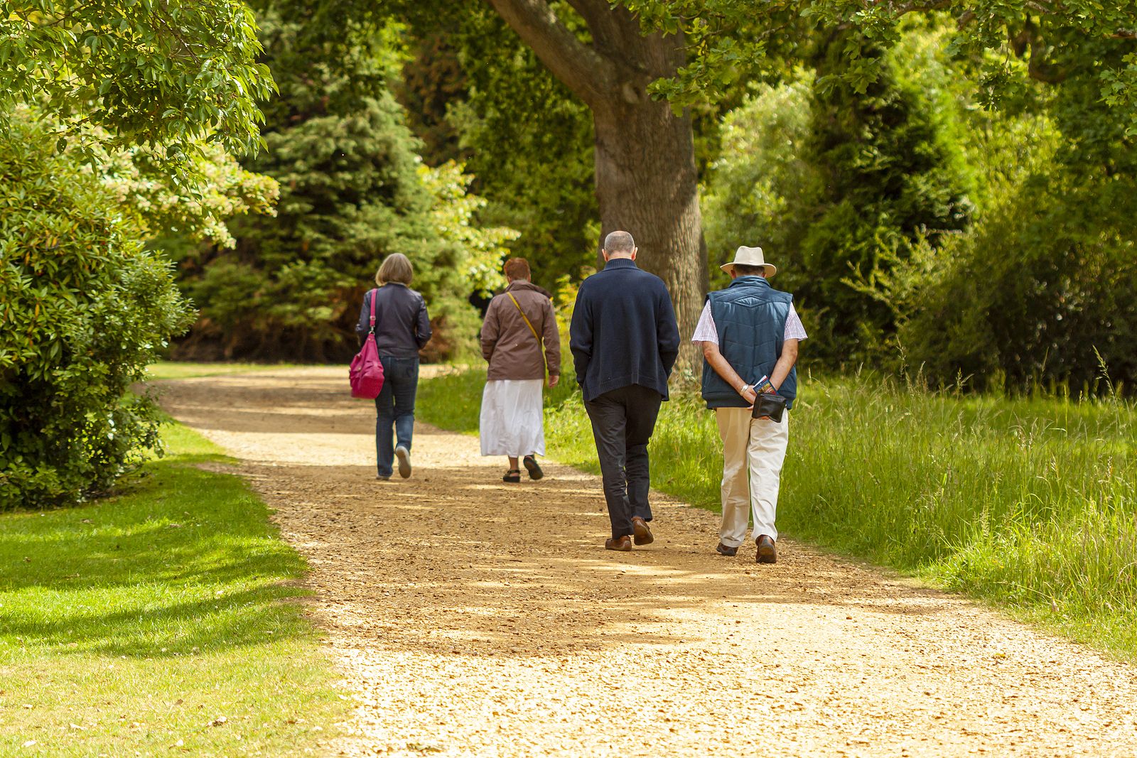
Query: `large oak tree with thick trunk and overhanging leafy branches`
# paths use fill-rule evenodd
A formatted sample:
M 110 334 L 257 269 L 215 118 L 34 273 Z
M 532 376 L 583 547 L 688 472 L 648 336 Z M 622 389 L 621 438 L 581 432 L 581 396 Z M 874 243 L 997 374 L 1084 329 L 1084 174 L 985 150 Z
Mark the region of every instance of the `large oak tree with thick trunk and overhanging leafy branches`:
M 296 0 L 292 0 L 296 2 Z M 640 261 L 671 289 L 684 330 L 705 291 L 705 248 L 691 118 L 686 107 L 713 100 L 740 77 L 791 60 L 810 30 L 854 30 L 875 44 L 898 36 L 913 13 L 938 13 L 958 26 L 961 53 L 994 101 L 1016 76 L 1062 80 L 1054 64 L 1081 45 L 1103 60 L 1101 97 L 1137 103 L 1137 8 L 1095 0 L 484 0 L 591 110 L 601 232 L 631 231 Z M 342 35 L 391 16 L 414 25 L 476 13 L 446 0 L 324 0 L 312 16 Z M 1101 45 L 1112 45 L 1101 56 Z M 863 91 L 875 61 L 850 44 L 846 84 Z M 986 56 L 987 51 L 999 55 Z M 540 103 L 518 103 L 539 108 Z

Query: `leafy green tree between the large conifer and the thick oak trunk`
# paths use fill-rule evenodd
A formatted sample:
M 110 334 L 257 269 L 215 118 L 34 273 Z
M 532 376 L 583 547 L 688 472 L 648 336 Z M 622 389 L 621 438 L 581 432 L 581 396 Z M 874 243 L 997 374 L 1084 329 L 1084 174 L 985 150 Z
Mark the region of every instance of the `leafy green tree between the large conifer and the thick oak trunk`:
M 588 109 L 492 11 L 471 11 L 429 34 L 402 67 L 400 99 L 423 138 L 423 159 L 458 158 L 489 202 L 488 224 L 517 230 L 511 255 L 553 289 L 596 263 L 592 123 Z M 541 103 L 518 117 L 521 103 Z

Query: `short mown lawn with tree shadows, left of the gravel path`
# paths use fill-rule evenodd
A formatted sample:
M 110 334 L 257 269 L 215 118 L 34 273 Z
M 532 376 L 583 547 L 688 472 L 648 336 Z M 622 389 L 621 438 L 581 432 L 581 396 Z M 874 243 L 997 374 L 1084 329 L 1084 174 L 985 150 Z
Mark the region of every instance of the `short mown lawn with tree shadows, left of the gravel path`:
M 197 467 L 218 449 L 166 439 L 117 497 L 0 516 L 0 755 L 296 755 L 346 717 L 302 558 Z

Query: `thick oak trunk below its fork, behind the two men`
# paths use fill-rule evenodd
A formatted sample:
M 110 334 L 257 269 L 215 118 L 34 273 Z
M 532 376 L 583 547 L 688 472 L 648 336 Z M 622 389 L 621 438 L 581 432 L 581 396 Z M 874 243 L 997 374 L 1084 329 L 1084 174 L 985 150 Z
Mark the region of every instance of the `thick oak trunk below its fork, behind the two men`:
M 692 369 L 698 356 L 689 340 L 707 272 L 691 119 L 665 102 L 614 105 L 592 110 L 600 241 L 616 230 L 634 238 L 637 263 L 671 292 L 683 344 L 679 368 Z

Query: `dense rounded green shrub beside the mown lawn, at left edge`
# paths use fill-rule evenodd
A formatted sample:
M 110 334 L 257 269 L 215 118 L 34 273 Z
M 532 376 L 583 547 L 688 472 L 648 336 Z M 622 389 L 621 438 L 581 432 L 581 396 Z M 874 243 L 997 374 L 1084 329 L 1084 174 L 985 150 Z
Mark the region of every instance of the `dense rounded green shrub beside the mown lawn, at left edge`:
M 0 510 L 109 488 L 157 450 L 132 394 L 190 309 L 114 191 L 42 124 L 0 136 Z

